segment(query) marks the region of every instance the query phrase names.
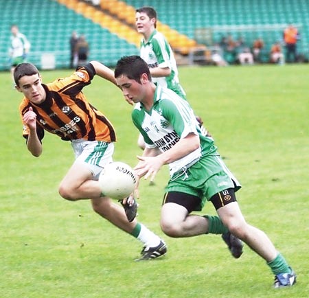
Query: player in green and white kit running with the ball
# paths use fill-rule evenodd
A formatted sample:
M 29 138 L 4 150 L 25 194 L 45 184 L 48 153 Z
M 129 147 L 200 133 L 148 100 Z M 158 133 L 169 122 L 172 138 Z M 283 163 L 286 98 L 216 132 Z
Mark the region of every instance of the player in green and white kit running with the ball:
M 139 56 L 120 59 L 115 79 L 124 97 L 136 104 L 133 123 L 146 142 L 135 166 L 137 175 L 153 181 L 163 165 L 170 167 L 161 208 L 163 232 L 174 238 L 222 234 L 234 257 L 242 254 L 240 238 L 271 267 L 275 288 L 295 284 L 294 271 L 271 240 L 244 220 L 235 196 L 240 183 L 220 158 L 214 139 L 201 134 L 190 104 L 154 84 L 147 63 Z M 201 211 L 207 200 L 218 216 L 191 214 Z

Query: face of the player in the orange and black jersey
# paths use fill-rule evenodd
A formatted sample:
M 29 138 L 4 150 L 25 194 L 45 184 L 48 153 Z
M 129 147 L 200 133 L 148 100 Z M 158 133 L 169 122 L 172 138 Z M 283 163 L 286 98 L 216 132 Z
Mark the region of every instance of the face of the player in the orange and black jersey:
M 19 86 L 16 86 L 16 89 L 22 92 L 34 104 L 41 104 L 46 98 L 46 92 L 42 86 L 41 77 L 38 74 L 21 77 L 19 79 Z

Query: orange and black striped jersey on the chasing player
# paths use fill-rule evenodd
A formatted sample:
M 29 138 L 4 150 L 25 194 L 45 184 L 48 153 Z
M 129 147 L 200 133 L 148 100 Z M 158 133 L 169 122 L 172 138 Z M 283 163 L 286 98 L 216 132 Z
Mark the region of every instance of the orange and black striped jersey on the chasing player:
M 90 63 L 79 67 L 71 76 L 58 79 L 50 84 L 42 84 L 46 99 L 41 104 L 33 104 L 23 98 L 19 111 L 21 117 L 32 106 L 36 113 L 36 130 L 43 139 L 44 130 L 54 133 L 63 140 L 85 139 L 87 141 L 116 141 L 111 122 L 82 93 L 82 88 L 91 84 L 95 69 Z M 23 126 L 23 137 L 29 134 Z

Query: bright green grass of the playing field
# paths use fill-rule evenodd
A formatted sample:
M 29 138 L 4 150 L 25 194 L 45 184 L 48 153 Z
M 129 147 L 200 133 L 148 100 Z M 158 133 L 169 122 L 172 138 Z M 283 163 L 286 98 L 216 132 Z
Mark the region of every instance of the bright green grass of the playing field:
M 141 244 L 91 210 L 58 195 L 73 161 L 70 144 L 46 135 L 35 159 L 21 137 L 9 73 L 0 73 L 0 297 L 308 297 L 309 89 L 308 65 L 181 67 L 181 82 L 222 157 L 243 185 L 238 200 L 247 221 L 266 231 L 297 271 L 293 288 L 274 290 L 264 260 L 248 247 L 234 260 L 219 236 L 172 239 L 159 228 L 164 168 L 141 183 L 139 220 L 159 233 L 162 260 L 133 262 Z M 70 71 L 45 71 L 43 80 Z M 113 122 L 115 160 L 140 153 L 131 107 L 111 84 L 95 78 L 84 92 Z M 211 204 L 202 214 L 214 214 Z

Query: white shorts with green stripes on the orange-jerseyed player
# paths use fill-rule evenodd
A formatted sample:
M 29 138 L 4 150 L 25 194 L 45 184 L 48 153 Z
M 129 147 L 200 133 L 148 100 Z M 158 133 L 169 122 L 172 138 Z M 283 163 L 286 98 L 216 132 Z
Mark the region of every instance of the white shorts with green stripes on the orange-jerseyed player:
M 102 168 L 113 161 L 114 144 L 106 141 L 86 141 L 75 139 L 71 141 L 76 161 L 83 163 L 97 180 Z

